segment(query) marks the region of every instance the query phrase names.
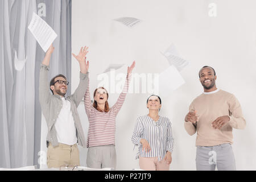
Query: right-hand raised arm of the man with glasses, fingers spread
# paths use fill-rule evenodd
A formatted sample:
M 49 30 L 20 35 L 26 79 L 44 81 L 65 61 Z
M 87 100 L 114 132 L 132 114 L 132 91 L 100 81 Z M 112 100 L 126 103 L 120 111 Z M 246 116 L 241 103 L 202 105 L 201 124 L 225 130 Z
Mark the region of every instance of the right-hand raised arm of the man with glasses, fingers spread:
M 84 47 L 80 49 L 80 52 L 78 55 L 75 55 L 72 53 L 72 55 L 76 58 L 76 60 L 79 62 L 80 66 L 80 82 L 79 86 L 77 86 L 77 89 L 75 92 L 70 96 L 70 98 L 75 102 L 76 107 L 79 106 L 80 102 L 82 101 L 82 97 L 84 97 L 85 91 L 88 86 L 88 69 L 89 69 L 89 61 L 86 63 L 86 54 L 88 53 L 88 47 Z

